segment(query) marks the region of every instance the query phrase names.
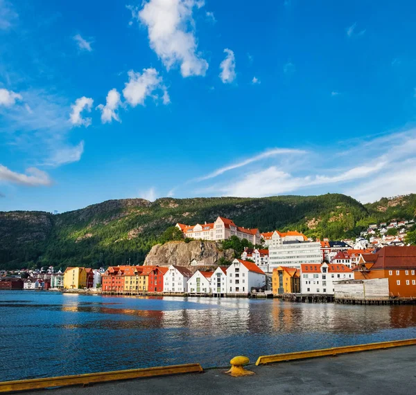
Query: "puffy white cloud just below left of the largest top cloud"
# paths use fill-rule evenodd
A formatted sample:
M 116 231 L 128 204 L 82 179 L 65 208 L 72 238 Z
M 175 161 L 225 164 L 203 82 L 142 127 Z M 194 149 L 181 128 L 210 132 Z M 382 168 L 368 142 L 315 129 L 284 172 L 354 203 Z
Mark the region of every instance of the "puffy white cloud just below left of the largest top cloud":
M 144 68 L 141 74 L 130 70 L 128 77 L 129 80 L 125 83 L 123 89 L 123 96 L 130 106 L 136 107 L 137 104 L 143 106 L 148 96 L 159 98 L 158 95 L 153 93 L 156 90 L 163 91 L 162 100 L 164 104 L 171 101 L 166 87 L 163 85 L 162 77 L 159 76 L 155 68 Z

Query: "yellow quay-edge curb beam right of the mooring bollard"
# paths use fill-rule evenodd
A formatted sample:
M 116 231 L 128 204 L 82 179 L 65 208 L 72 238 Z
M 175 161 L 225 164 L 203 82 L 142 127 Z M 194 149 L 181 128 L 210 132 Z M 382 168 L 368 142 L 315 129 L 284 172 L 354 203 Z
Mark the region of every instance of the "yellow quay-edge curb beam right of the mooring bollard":
M 317 358 L 320 356 L 334 356 L 343 353 L 356 353 L 358 351 L 370 351 L 376 349 L 389 349 L 391 347 L 402 347 L 416 345 L 416 339 L 395 340 L 392 342 L 368 343 L 366 345 L 355 345 L 345 347 L 333 347 L 331 349 L 320 349 L 311 351 L 298 351 L 295 353 L 275 354 L 271 356 L 260 356 L 256 365 L 265 365 L 272 362 L 283 362 L 288 360 Z

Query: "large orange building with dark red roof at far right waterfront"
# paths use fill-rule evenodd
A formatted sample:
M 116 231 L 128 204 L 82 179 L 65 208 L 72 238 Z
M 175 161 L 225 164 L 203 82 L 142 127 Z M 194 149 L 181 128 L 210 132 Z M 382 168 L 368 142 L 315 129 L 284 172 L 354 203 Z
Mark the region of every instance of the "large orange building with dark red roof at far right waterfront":
M 416 246 L 361 254 L 353 271 L 354 279 L 388 278 L 390 296 L 416 297 Z

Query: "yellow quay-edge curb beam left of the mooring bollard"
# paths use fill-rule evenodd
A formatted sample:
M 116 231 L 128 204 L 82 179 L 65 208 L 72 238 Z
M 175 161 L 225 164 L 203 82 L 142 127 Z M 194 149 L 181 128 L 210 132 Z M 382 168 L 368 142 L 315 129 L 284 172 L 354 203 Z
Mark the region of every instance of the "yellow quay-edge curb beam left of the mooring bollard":
M 0 382 L 0 392 L 24 391 L 48 387 L 63 387 L 65 385 L 80 385 L 104 383 L 105 381 L 127 380 L 129 378 L 145 378 L 166 376 L 170 374 L 200 373 L 204 371 L 199 363 L 187 365 L 171 365 L 164 367 L 149 367 L 146 369 L 104 371 L 102 373 L 77 374 L 75 376 L 60 376 L 51 378 L 34 378 L 31 380 L 16 380 Z

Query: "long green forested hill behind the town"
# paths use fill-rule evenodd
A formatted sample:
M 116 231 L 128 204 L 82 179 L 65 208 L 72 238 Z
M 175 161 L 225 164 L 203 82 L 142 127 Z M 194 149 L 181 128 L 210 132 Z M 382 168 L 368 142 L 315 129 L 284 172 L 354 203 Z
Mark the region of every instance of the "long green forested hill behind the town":
M 229 217 L 239 226 L 354 237 L 369 223 L 415 215 L 415 196 L 362 205 L 343 194 L 251 198 L 121 199 L 63 214 L 0 212 L 0 268 L 141 264 L 168 226 Z M 399 198 L 397 198 L 399 199 Z M 379 207 L 386 207 L 383 211 Z M 390 218 L 389 218 L 390 219 Z

